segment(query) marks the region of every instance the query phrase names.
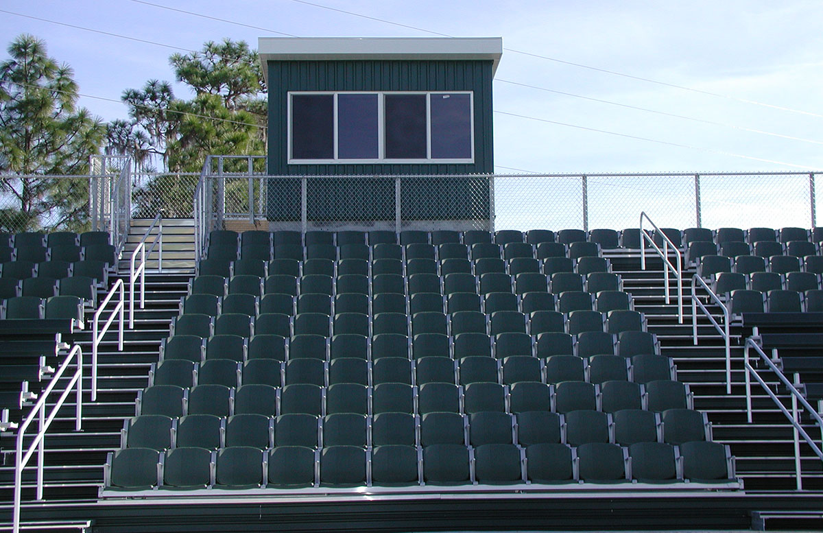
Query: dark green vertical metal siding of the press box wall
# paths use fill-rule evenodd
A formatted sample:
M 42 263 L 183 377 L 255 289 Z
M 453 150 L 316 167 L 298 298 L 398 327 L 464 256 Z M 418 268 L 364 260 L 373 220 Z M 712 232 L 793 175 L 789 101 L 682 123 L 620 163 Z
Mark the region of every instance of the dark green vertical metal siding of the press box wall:
M 489 61 L 270 61 L 268 62 L 268 172 L 272 175 L 409 175 L 491 174 L 492 100 Z M 474 104 L 474 163 L 472 164 L 368 164 L 289 165 L 288 93 L 290 91 L 450 91 L 472 90 Z M 443 183 L 406 181 L 402 184 L 402 217 L 405 220 L 467 220 L 488 216 L 488 190 L 479 184 L 444 180 Z M 268 219 L 300 220 L 298 183 L 269 187 Z M 434 187 L 433 187 L 434 186 Z M 316 179 L 308 183 L 309 220 L 351 220 L 351 202 L 341 199 L 363 194 L 359 180 Z M 467 196 L 467 190 L 471 193 Z M 451 192 L 451 193 L 450 193 Z M 394 188 L 370 190 L 369 205 L 359 205 L 356 220 L 390 220 Z M 337 199 L 337 202 L 335 202 Z M 360 202 L 358 202 L 360 203 Z

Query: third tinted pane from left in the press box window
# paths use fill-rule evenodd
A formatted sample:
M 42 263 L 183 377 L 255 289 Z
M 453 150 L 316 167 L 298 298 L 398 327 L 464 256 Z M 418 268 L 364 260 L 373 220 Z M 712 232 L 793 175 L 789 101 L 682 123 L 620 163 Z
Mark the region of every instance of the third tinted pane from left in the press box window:
M 425 159 L 425 95 L 386 95 L 386 158 Z

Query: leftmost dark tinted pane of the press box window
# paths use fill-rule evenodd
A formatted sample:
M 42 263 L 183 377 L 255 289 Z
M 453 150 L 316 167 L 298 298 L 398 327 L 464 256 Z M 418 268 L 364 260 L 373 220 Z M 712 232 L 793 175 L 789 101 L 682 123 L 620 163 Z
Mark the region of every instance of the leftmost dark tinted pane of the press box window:
M 333 95 L 292 95 L 291 157 L 319 160 L 334 157 Z

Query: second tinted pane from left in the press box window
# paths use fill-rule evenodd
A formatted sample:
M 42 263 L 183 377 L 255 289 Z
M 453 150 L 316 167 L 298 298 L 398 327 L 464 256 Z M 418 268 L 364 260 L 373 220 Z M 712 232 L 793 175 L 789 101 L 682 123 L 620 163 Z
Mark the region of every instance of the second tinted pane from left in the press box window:
M 377 159 L 377 95 L 337 95 L 337 157 Z

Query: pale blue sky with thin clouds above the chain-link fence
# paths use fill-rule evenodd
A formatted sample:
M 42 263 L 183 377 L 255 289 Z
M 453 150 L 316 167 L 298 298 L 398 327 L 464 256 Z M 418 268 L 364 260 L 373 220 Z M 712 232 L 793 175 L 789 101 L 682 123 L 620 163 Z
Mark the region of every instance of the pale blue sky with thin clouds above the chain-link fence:
M 501 173 L 823 169 L 819 2 L 313 2 L 440 34 L 502 37 L 508 50 L 494 86 L 495 111 L 500 112 L 495 114 L 495 163 Z M 74 68 L 81 93 L 119 100 L 124 89 L 141 87 L 148 79 L 174 81 L 170 53 L 199 49 L 207 40 L 244 39 L 256 48 L 258 37 L 278 36 L 275 32 L 432 35 L 296 0 L 151 3 L 221 20 L 134 0 L 5 0 L 0 2 L 5 11 L 0 12 L 0 41 L 5 48 L 24 32 L 45 39 L 49 54 Z M 183 86 L 175 90 L 185 96 Z M 126 116 L 116 102 L 83 98 L 81 104 L 105 120 Z

